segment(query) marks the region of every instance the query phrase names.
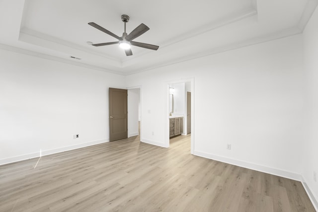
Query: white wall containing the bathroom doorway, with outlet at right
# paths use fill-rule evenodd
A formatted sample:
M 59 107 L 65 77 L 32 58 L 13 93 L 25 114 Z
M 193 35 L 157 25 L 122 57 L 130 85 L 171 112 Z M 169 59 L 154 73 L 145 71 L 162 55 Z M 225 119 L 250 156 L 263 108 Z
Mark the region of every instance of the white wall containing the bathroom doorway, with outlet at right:
M 297 35 L 127 76 L 145 91 L 143 140 L 165 146 L 166 84 L 194 77 L 195 154 L 299 179 L 302 49 Z

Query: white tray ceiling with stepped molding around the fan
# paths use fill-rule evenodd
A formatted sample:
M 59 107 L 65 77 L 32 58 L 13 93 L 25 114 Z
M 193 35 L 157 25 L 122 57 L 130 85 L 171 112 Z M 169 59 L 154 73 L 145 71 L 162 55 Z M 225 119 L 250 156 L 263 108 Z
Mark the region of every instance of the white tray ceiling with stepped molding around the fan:
M 101 71 L 131 74 L 302 33 L 318 0 L 0 0 L 0 48 Z M 150 30 L 134 41 L 158 51 L 87 41 L 117 41 L 139 24 Z M 80 58 L 72 59 L 70 56 Z

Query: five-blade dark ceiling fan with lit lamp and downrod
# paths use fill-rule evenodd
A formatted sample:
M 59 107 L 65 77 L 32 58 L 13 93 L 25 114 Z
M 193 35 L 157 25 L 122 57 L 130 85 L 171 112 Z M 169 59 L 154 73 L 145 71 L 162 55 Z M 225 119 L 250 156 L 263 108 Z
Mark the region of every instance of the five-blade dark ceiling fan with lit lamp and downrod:
M 138 46 L 146 49 L 152 49 L 152 50 L 157 50 L 159 46 L 152 45 L 152 44 L 147 44 L 147 43 L 140 43 L 133 41 L 135 38 L 141 36 L 145 32 L 147 32 L 150 28 L 146 26 L 145 24 L 140 24 L 137 26 L 129 35 L 126 33 L 126 23 L 129 21 L 129 16 L 128 15 L 122 15 L 121 20 L 124 22 L 124 33 L 122 37 L 119 37 L 115 35 L 114 33 L 108 31 L 107 29 L 99 26 L 98 24 L 94 22 L 89 22 L 88 24 L 91 25 L 92 27 L 95 27 L 96 29 L 99 29 L 102 32 L 105 32 L 106 34 L 118 39 L 118 41 L 115 42 L 108 42 L 108 43 L 98 43 L 98 44 L 92 44 L 93 46 L 107 46 L 107 45 L 112 45 L 112 44 L 119 44 L 119 46 L 125 50 L 125 53 L 127 56 L 133 55 L 133 52 L 131 51 L 131 46 Z

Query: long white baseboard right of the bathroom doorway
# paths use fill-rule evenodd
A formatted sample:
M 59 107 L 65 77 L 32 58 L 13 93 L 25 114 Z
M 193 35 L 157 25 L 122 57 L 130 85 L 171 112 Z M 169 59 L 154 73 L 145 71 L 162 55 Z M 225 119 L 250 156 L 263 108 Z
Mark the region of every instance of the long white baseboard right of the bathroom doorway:
M 258 164 L 254 164 L 254 163 L 250 163 L 250 162 L 246 162 L 246 161 L 240 161 L 240 160 L 236 160 L 233 158 L 223 157 L 223 156 L 214 155 L 214 154 L 210 154 L 207 152 L 196 151 L 196 150 L 194 150 L 194 155 L 209 158 L 212 160 L 225 162 L 225 163 L 229 163 L 232 165 L 236 165 L 236 166 L 240 166 L 240 167 L 244 167 L 244 168 L 248 168 L 248 169 L 253 169 L 256 171 L 265 172 L 268 174 L 277 175 L 280 177 L 289 178 L 292 180 L 302 181 L 301 174 L 297 174 L 297 173 L 293 173 L 293 172 L 289 172 L 289 171 L 285 171 L 285 170 L 271 168 L 271 167 L 267 167 L 267 166 L 263 166 L 263 165 L 258 165 Z

